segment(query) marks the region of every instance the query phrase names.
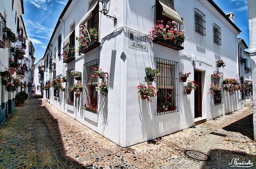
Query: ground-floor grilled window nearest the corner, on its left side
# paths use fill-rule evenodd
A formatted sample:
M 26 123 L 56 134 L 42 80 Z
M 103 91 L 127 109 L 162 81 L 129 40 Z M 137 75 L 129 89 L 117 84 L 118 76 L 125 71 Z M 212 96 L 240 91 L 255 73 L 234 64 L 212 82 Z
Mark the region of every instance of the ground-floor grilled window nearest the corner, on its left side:
M 84 109 L 91 112 L 97 112 L 98 110 L 98 78 L 90 78 L 91 74 L 94 73 L 94 68 L 98 69 L 99 60 L 93 60 L 83 65 L 83 102 Z

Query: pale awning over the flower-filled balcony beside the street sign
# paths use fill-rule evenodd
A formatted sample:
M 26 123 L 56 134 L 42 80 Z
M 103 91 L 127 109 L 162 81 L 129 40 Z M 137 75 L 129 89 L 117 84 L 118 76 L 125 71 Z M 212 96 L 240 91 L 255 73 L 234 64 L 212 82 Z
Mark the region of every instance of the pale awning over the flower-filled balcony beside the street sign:
M 158 0 L 160 5 L 163 7 L 163 15 L 183 24 L 180 15 L 175 11 L 172 0 Z

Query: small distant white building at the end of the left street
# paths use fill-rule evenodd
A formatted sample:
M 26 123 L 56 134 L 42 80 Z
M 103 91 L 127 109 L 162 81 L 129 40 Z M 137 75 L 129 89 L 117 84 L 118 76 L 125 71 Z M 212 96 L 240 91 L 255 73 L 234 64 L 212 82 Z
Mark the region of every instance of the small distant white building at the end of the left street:
M 45 68 L 45 60 L 40 59 L 35 64 L 34 69 L 34 93 L 37 95 L 42 95 L 43 87 L 44 87 L 44 68 Z

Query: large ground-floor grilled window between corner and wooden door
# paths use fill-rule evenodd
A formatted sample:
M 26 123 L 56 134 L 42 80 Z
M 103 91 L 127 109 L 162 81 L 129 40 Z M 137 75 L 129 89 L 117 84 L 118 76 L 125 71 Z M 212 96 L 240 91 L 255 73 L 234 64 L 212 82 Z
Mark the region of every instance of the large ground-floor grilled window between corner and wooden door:
M 179 111 L 179 62 L 157 58 L 157 115 Z M 166 109 L 167 108 L 167 109 Z

